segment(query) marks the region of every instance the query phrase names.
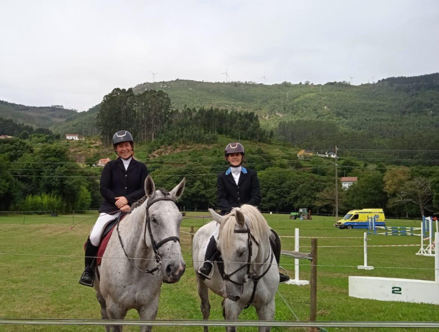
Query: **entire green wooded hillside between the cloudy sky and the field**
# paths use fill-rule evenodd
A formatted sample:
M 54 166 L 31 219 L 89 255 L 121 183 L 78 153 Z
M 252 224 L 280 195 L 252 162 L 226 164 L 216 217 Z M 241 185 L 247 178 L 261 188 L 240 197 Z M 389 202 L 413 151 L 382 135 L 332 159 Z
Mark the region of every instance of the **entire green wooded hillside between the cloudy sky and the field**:
M 123 128 L 133 133 L 136 157 L 160 186 L 172 188 L 186 177 L 180 200 L 186 209 L 215 207 L 216 175 L 226 168 L 224 146 L 239 140 L 246 165 L 258 171 L 265 211 L 308 207 L 333 213 L 335 160 L 301 160 L 297 153 L 324 155 L 337 145 L 338 178 L 358 177 L 339 191 L 340 213 L 364 207 L 383 208 L 389 216 L 435 213 L 438 75 L 362 86 L 177 80 L 155 83 L 163 90 L 115 88 L 100 105 L 57 127 L 88 135 L 83 142 L 3 120 L 1 130 L 20 134 L 0 140 L 0 209 L 99 206 L 100 168 L 91 165 L 114 157 L 110 138 Z M 89 136 L 94 133 L 100 136 Z

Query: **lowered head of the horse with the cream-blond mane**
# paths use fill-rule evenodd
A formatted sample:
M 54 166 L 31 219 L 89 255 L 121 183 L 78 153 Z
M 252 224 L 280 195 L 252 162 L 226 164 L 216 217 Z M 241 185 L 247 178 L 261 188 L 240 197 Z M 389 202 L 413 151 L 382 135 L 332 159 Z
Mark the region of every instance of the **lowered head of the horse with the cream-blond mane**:
M 224 260 L 223 296 L 238 301 L 254 269 L 252 264 L 259 254 L 261 234 L 268 234 L 269 227 L 251 205 L 243 205 L 225 216 L 209 211 L 220 224 L 217 246 Z

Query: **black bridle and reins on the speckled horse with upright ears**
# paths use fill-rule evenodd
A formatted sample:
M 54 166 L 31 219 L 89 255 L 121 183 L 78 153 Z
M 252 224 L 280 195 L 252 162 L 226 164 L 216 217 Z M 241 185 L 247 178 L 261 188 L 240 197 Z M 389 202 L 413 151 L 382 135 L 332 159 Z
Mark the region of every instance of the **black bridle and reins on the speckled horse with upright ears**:
M 133 264 L 133 262 L 131 262 L 131 258 L 128 257 L 128 254 L 126 253 L 125 248 L 123 247 L 122 238 L 120 237 L 120 234 L 119 234 L 119 223 L 118 223 L 118 226 L 116 228 L 116 230 L 118 232 L 118 236 L 119 236 L 119 242 L 120 242 L 120 245 L 122 246 L 122 249 L 123 249 L 123 253 L 125 254 L 126 258 L 128 258 L 128 261 L 130 262 L 131 266 L 133 266 L 136 270 L 138 270 L 138 271 L 140 271 L 142 273 L 154 274 L 154 272 L 156 272 L 156 271 L 158 271 L 160 269 L 161 257 L 159 255 L 159 248 L 163 244 L 165 244 L 166 242 L 169 242 L 169 241 L 174 241 L 174 242 L 178 241 L 178 242 L 180 242 L 180 238 L 178 236 L 166 237 L 163 240 L 159 241 L 159 243 L 157 243 L 154 240 L 154 236 L 153 236 L 152 231 L 151 231 L 151 217 L 149 216 L 149 208 L 151 207 L 151 205 L 153 205 L 154 203 L 156 203 L 156 202 L 158 202 L 160 200 L 171 200 L 174 203 L 176 203 L 175 199 L 173 199 L 171 197 L 159 197 L 159 198 L 153 199 L 151 202 L 148 200 L 148 203 L 146 205 L 145 230 L 143 231 L 143 241 L 146 244 L 146 229 L 148 229 L 149 238 L 151 240 L 151 245 L 152 245 L 152 250 L 154 251 L 154 260 L 155 260 L 155 263 L 156 263 L 156 267 L 154 269 L 151 269 L 151 270 L 148 270 L 148 269 L 140 270 L 138 267 L 136 267 Z

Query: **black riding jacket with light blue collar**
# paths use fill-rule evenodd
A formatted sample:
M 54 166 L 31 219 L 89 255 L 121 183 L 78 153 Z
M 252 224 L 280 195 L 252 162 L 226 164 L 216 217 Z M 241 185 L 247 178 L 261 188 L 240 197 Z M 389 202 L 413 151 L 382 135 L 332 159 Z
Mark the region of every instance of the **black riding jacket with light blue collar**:
M 217 203 L 220 214 L 229 213 L 232 208 L 242 204 L 258 206 L 260 203 L 259 179 L 256 171 L 241 167 L 238 184 L 235 183 L 231 169 L 217 177 Z

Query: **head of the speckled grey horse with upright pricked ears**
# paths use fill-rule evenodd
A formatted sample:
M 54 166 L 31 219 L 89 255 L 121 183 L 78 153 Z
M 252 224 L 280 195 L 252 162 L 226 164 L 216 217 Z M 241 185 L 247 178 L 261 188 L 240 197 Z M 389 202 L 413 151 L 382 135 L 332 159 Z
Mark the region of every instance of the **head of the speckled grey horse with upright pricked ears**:
M 157 190 L 151 176 L 145 180 L 147 234 L 146 245 L 155 253 L 156 264 L 161 265 L 163 282 L 175 283 L 183 275 L 186 264 L 181 255 L 181 213 L 175 201 L 183 194 L 185 179 L 170 192 Z M 149 234 L 149 236 L 148 236 Z

